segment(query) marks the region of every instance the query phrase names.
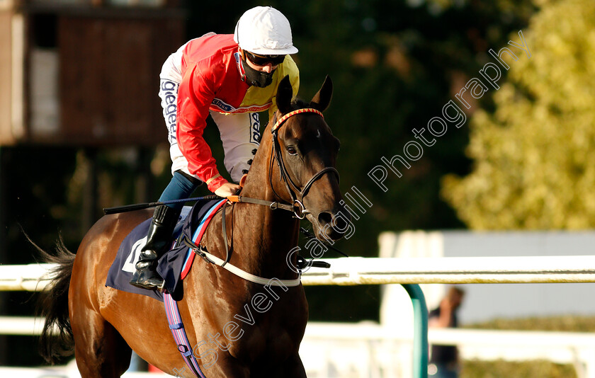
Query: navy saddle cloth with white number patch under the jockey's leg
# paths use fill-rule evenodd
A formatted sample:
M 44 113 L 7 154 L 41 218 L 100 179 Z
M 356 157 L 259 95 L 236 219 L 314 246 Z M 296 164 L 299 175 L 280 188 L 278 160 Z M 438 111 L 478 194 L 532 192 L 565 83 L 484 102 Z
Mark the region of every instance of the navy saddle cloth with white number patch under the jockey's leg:
M 200 200 L 192 208 L 184 207 L 180 215 L 180 220 L 174 229 L 171 244 L 174 244 L 174 241 L 179 238 L 180 234 L 186 234 L 191 239 L 192 230 L 196 228 L 196 224 L 200 223 L 200 220 L 203 219 L 210 208 L 217 205 L 218 202 L 220 200 Z M 130 285 L 132 274 L 136 270 L 135 263 L 140 256 L 142 247 L 147 243 L 149 224 L 151 224 L 150 218 L 135 227 L 125 237 L 122 244 L 120 244 L 118 254 L 115 256 L 115 260 L 108 272 L 106 286 L 123 292 L 147 295 L 163 302 L 163 293 L 159 292 L 159 290 L 140 289 L 139 287 Z M 176 301 L 183 298 L 181 272 L 188 257 L 188 250 L 188 246 L 182 243 L 181 246 L 174 247 L 159 258 L 157 265 L 157 273 L 164 278 L 167 292 Z

